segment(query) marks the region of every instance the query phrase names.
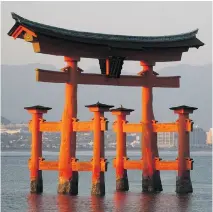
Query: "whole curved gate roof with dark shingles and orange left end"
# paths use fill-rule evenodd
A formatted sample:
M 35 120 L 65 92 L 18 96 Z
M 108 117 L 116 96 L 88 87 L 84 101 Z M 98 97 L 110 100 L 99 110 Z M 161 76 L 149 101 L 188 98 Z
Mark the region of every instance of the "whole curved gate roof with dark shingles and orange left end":
M 80 32 L 36 23 L 12 13 L 16 23 L 9 36 L 33 43 L 34 51 L 60 56 L 105 59 L 178 61 L 191 47 L 204 45 L 198 30 L 169 36 L 125 36 Z

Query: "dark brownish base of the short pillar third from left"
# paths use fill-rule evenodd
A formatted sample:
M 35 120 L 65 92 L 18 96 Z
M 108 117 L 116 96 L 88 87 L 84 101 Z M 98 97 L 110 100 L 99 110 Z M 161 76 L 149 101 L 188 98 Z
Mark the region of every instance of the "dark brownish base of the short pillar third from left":
M 104 173 L 100 173 L 100 180 L 92 183 L 91 195 L 104 196 L 105 195 L 105 179 Z

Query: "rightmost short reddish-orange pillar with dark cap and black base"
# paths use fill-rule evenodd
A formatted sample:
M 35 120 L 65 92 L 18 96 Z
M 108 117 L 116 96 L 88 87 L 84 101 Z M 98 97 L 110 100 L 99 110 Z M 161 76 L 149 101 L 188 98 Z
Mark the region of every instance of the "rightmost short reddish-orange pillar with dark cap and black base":
M 172 107 L 176 114 L 179 115 L 178 122 L 178 176 L 176 179 L 177 193 L 192 193 L 192 182 L 190 177 L 190 170 L 186 168 L 186 159 L 190 160 L 189 148 L 189 132 L 187 131 L 187 121 L 189 120 L 189 113 L 197 110 L 195 107 L 179 106 Z

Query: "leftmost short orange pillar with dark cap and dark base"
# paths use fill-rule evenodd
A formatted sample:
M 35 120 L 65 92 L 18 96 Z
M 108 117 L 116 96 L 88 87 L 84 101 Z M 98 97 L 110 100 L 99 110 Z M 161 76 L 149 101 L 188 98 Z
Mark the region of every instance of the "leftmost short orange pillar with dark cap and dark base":
M 40 105 L 25 107 L 30 114 L 32 114 L 32 144 L 31 144 L 31 158 L 30 158 L 30 192 L 43 192 L 42 171 L 39 170 L 39 159 L 42 158 L 42 133 L 40 132 L 40 121 L 44 113 L 47 113 L 51 108 Z

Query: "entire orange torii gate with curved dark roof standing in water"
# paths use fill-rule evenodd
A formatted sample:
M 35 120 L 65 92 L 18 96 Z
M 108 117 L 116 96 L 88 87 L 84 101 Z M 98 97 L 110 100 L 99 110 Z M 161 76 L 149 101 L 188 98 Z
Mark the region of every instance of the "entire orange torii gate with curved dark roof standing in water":
M 79 32 L 52 27 L 24 19 L 14 13 L 16 23 L 8 35 L 20 38 L 32 44 L 34 52 L 64 56 L 67 66 L 60 72 L 36 69 L 39 82 L 65 83 L 65 105 L 60 122 L 46 122 L 42 114 L 49 109 L 42 106 L 27 107 L 33 114 L 30 122 L 32 132 L 32 155 L 29 161 L 31 171 L 31 192 L 42 192 L 41 170 L 59 171 L 59 193 L 78 193 L 78 171 L 92 171 L 92 194 L 104 195 L 104 172 L 106 159 L 104 156 L 104 131 L 107 120 L 104 112 L 112 105 L 96 103 L 87 106 L 94 113 L 89 122 L 77 119 L 77 87 L 78 84 L 134 86 L 142 89 L 142 119 L 139 124 L 127 124 L 126 115 L 132 110 L 123 107 L 112 109 L 117 116 L 114 131 L 117 134 L 117 150 L 114 166 L 116 168 L 116 188 L 129 189 L 127 169 L 143 170 L 142 189 L 145 192 L 162 190 L 160 170 L 177 170 L 176 191 L 192 192 L 189 170 L 192 160 L 189 155 L 189 131 L 192 122 L 188 114 L 192 107 L 180 106 L 172 108 L 180 114 L 176 123 L 157 123 L 152 108 L 152 88 L 178 88 L 180 76 L 160 77 L 153 71 L 156 62 L 180 61 L 183 52 L 189 48 L 204 45 L 196 38 L 198 30 L 172 36 L 123 36 L 98 33 Z M 78 67 L 80 58 L 98 59 L 101 74 L 83 73 Z M 121 75 L 125 60 L 140 61 L 142 71 L 138 75 Z M 93 159 L 90 162 L 79 162 L 76 159 L 76 132 L 94 131 Z M 59 161 L 45 161 L 42 158 L 43 131 L 60 131 L 61 145 Z M 179 133 L 179 150 L 176 161 L 161 161 L 157 148 L 157 132 L 176 131 Z M 126 132 L 141 132 L 142 158 L 139 161 L 127 159 L 125 146 Z

